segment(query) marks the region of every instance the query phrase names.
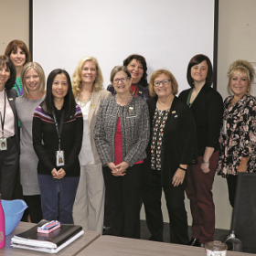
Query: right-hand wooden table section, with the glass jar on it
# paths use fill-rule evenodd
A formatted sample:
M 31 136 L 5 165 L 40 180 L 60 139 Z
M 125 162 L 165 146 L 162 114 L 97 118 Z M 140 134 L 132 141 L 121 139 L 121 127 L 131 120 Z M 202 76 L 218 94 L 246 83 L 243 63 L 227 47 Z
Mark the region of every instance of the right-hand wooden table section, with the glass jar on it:
M 78 256 L 206 256 L 204 248 L 150 240 L 133 240 L 113 236 L 101 236 L 94 240 Z M 228 251 L 227 256 L 254 255 Z

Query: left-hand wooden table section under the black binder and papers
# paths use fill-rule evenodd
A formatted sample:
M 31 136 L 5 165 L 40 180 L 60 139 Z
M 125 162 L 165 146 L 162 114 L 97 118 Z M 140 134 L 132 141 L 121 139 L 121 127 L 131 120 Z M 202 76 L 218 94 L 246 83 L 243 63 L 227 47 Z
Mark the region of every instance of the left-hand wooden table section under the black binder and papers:
M 23 249 L 13 249 L 11 247 L 11 239 L 13 235 L 22 233 L 27 229 L 32 228 L 35 224 L 27 223 L 27 222 L 19 222 L 16 229 L 8 236 L 5 237 L 5 248 L 0 249 L 1 256 L 27 256 L 27 255 L 57 255 L 57 256 L 70 256 L 70 255 L 77 255 L 80 251 L 86 248 L 88 245 L 91 244 L 94 240 L 97 240 L 100 237 L 100 234 L 94 231 L 84 231 L 84 234 L 80 236 L 79 239 L 74 240 L 71 244 L 67 247 L 59 251 L 57 254 L 49 254 L 40 251 L 29 251 Z

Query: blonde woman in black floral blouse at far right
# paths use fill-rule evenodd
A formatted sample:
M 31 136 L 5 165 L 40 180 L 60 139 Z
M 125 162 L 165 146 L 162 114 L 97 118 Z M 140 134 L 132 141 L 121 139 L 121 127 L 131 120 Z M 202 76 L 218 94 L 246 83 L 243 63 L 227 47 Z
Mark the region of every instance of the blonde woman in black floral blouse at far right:
M 224 113 L 219 143 L 218 175 L 227 178 L 229 202 L 234 207 L 237 175 L 256 171 L 256 100 L 251 96 L 255 71 L 246 60 L 229 67 L 229 96 Z

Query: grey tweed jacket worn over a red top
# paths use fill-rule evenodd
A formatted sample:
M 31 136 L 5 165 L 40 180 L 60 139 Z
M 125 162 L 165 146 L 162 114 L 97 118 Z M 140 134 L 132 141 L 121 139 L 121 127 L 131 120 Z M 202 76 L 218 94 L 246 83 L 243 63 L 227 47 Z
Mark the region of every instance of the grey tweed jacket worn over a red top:
M 149 141 L 149 113 L 144 100 L 133 97 L 128 106 L 120 106 L 115 97 L 101 101 L 94 127 L 94 140 L 102 165 L 115 162 L 115 131 L 120 116 L 123 161 L 130 166 L 146 157 Z

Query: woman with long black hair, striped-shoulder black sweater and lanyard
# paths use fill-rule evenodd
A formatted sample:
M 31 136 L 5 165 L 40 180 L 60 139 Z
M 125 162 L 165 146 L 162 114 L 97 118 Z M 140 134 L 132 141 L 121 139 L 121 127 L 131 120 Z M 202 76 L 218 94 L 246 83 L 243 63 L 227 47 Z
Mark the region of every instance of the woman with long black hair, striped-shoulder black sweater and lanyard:
M 73 222 L 82 131 L 82 113 L 74 100 L 69 74 L 54 69 L 48 75 L 46 99 L 34 113 L 32 128 L 44 219 Z

